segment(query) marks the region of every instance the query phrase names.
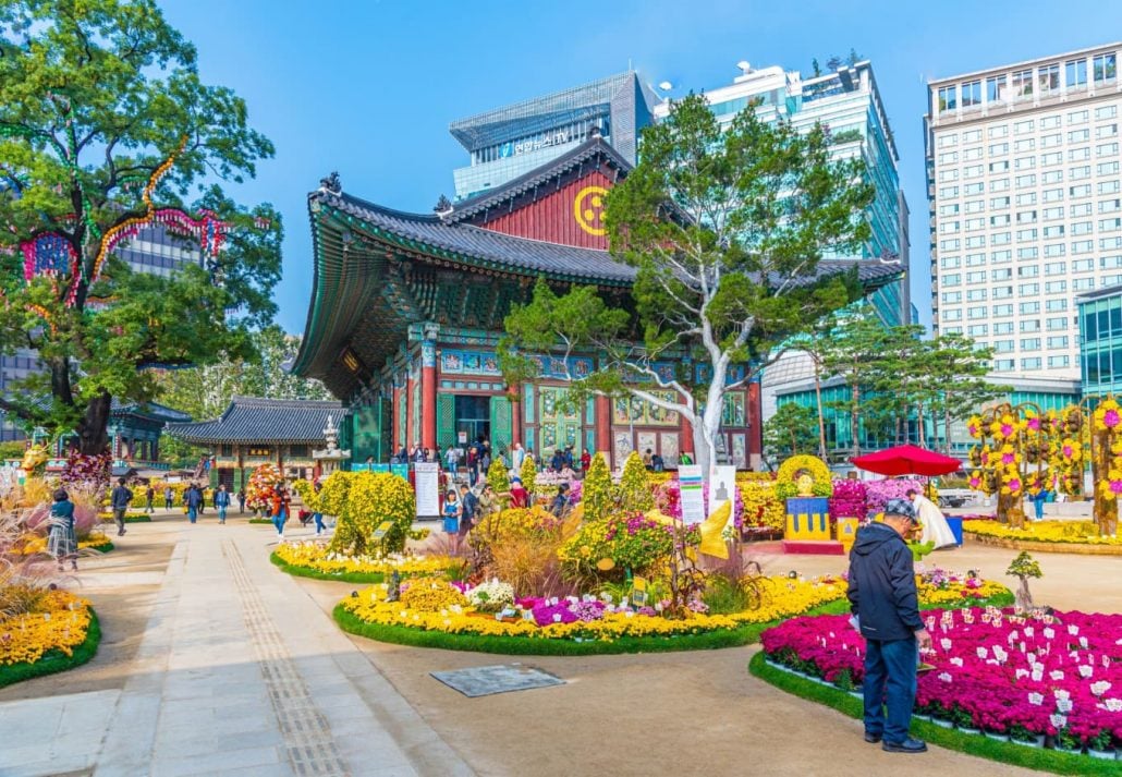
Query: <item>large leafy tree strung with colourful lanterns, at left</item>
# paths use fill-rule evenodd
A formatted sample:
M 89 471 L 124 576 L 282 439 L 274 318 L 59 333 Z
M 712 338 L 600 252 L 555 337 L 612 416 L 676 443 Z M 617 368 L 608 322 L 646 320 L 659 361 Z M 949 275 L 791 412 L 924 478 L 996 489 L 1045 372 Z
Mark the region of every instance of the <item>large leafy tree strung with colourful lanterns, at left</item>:
M 83 453 L 99 454 L 112 397 L 151 397 L 148 367 L 254 355 L 249 332 L 275 312 L 280 218 L 212 182 L 251 177 L 273 145 L 248 126 L 241 99 L 202 83 L 194 47 L 154 0 L 9 0 L 0 53 L 0 250 L 10 257 L 0 346 L 37 349 L 47 373 L 21 387 L 54 400 L 0 405 L 26 426 L 73 429 Z M 228 228 L 224 248 L 172 277 L 113 256 L 99 266 L 102 241 L 149 207 L 210 210 Z M 45 234 L 76 259 L 26 282 L 19 244 Z

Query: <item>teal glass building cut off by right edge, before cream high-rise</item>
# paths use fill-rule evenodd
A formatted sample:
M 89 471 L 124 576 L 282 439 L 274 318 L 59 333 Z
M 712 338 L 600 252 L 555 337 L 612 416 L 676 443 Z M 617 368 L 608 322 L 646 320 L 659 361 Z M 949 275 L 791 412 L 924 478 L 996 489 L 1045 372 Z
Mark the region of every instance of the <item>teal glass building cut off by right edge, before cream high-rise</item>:
M 1122 395 L 1122 284 L 1080 294 L 1076 303 L 1083 393 Z

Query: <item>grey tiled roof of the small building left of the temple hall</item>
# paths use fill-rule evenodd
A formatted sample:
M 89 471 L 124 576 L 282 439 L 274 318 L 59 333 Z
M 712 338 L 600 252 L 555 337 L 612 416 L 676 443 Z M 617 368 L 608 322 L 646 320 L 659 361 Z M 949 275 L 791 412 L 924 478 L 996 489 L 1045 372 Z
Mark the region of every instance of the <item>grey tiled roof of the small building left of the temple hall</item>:
M 169 423 L 167 433 L 184 442 L 323 442 L 328 417 L 342 417 L 341 402 L 234 396 L 222 417 L 197 423 Z

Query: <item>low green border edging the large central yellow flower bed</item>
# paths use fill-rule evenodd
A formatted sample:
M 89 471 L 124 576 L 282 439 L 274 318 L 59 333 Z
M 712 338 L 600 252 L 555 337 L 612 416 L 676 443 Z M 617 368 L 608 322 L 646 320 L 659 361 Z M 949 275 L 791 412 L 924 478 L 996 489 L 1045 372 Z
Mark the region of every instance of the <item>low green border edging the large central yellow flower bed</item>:
M 276 561 L 274 561 L 276 564 Z M 279 566 L 279 565 L 278 565 Z M 335 578 L 332 578 L 335 579 Z M 1012 604 L 1013 594 L 1005 592 L 977 602 L 974 606 L 1005 606 Z M 935 607 L 927 607 L 935 609 Z M 849 602 L 845 598 L 827 602 L 811 607 L 800 615 L 840 615 L 849 612 Z M 605 656 L 629 652 L 678 652 L 682 650 L 717 650 L 720 648 L 739 648 L 760 641 L 760 634 L 790 618 L 780 618 L 764 623 L 745 623 L 738 629 L 721 629 L 701 634 L 681 634 L 678 637 L 620 637 L 608 641 L 590 640 L 574 642 L 567 639 L 546 639 L 540 637 L 493 637 L 490 634 L 450 633 L 447 631 L 427 631 L 406 625 L 388 625 L 367 623 L 353 613 L 343 609 L 342 603 L 335 605 L 332 615 L 343 631 L 394 645 L 407 645 L 414 648 L 441 648 L 443 650 L 467 650 L 475 652 L 506 653 L 511 656 Z

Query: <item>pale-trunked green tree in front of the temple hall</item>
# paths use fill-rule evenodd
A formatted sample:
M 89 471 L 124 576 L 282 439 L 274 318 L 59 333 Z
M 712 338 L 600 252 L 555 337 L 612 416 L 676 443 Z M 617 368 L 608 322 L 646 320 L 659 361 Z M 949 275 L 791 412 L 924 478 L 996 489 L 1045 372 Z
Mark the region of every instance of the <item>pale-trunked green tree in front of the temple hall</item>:
M 608 193 L 605 214 L 613 255 L 637 271 L 625 307 L 635 316 L 608 308 L 590 289 L 557 296 L 542 283 L 507 318 L 500 366 L 524 376 L 525 362 L 512 366 L 507 358 L 513 344 L 606 354 L 604 369 L 571 382 L 682 414 L 707 472 L 724 395 L 754 376 L 729 381 L 730 367 L 762 368 L 788 339 L 859 296 L 855 272 L 817 271 L 827 248 L 856 249 L 867 237 L 862 213 L 873 188 L 861 161 L 831 159 L 822 127 L 801 134 L 749 107 L 723 129 L 697 94 L 644 129 L 642 145 L 640 164 Z M 654 368 L 657 359 L 683 356 L 711 368 L 708 385 L 692 385 L 686 369 L 668 380 Z M 673 390 L 677 401 L 651 386 Z

